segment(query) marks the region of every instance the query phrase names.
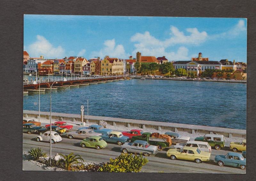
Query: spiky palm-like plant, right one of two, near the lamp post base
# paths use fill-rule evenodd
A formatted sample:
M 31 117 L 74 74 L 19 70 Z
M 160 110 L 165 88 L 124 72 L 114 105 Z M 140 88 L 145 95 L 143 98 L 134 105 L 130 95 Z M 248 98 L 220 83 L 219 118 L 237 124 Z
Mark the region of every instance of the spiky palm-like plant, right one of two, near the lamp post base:
M 68 155 L 63 155 L 60 153 L 60 155 L 63 158 L 61 158 L 57 162 L 57 164 L 66 170 L 71 170 L 71 166 L 74 163 L 84 165 L 84 163 L 82 162 L 82 161 L 84 161 L 84 159 L 80 155 L 74 155 L 74 153 L 69 153 Z

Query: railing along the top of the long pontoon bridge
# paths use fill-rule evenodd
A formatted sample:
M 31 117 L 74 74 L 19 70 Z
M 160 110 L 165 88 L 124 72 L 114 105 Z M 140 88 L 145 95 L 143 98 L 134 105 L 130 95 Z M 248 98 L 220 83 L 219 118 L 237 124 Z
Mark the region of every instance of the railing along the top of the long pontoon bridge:
M 75 80 L 93 80 L 93 79 L 105 79 L 105 78 L 115 78 L 115 77 L 127 77 L 128 75 L 100 75 L 100 76 L 92 76 L 92 77 L 77 77 L 77 76 L 74 76 L 74 77 L 69 77 L 69 78 L 66 78 L 65 76 L 62 77 L 55 77 L 55 79 L 51 80 L 51 79 L 42 79 L 41 81 L 36 81 L 37 84 L 39 83 L 50 83 L 50 82 L 54 82 L 54 81 L 57 81 L 57 82 L 62 82 L 64 81 L 64 78 L 67 79 L 67 81 L 75 81 Z M 133 75 L 132 75 L 133 76 Z M 129 75 L 129 77 L 132 77 Z M 23 82 L 23 85 L 29 85 L 29 84 L 33 84 L 34 81 L 26 81 L 26 82 Z

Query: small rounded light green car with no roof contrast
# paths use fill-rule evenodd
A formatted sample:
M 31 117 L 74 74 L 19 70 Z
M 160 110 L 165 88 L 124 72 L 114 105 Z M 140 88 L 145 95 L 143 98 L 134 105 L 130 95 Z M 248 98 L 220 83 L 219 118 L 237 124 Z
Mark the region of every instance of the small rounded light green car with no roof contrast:
M 101 148 L 105 148 L 108 146 L 108 143 L 104 141 L 103 138 L 100 136 L 92 136 L 90 138 L 85 138 L 80 142 L 80 145 L 85 148 L 85 147 L 93 147 L 96 148 L 97 150 Z

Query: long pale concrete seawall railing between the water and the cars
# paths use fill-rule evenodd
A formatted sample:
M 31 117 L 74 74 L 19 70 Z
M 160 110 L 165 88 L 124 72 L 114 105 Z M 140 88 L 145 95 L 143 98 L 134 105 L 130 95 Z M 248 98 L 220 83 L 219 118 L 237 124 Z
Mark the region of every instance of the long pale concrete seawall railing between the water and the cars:
M 38 111 L 23 110 L 23 117 L 35 117 L 38 118 Z M 50 119 L 50 112 L 40 112 L 41 118 Z M 246 130 L 238 130 L 231 128 L 220 128 L 211 126 L 199 126 L 191 124 L 179 124 L 172 122 L 156 122 L 156 121 L 144 121 L 144 120 L 134 120 L 134 119 L 123 119 L 123 118 L 112 118 L 112 117 L 102 117 L 102 116 L 91 116 L 89 115 L 87 122 L 87 115 L 84 117 L 84 122 L 98 124 L 100 120 L 106 121 L 110 125 L 114 126 L 137 126 L 142 129 L 154 128 L 156 130 L 170 130 L 170 131 L 186 131 L 188 133 L 196 134 L 221 134 L 225 137 L 242 137 L 246 138 Z M 57 119 L 66 122 L 81 122 L 80 114 L 66 114 L 66 113 L 52 113 L 52 119 Z

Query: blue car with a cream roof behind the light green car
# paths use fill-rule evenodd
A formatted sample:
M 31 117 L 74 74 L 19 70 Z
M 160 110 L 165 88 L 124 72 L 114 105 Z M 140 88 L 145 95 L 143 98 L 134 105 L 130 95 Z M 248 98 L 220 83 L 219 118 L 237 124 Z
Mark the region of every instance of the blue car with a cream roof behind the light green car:
M 101 137 L 108 143 L 117 143 L 118 145 L 123 145 L 124 142 L 130 141 L 129 137 L 118 131 L 112 131 L 108 135 L 101 135 Z

